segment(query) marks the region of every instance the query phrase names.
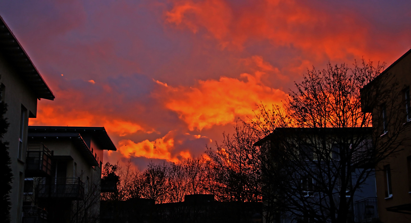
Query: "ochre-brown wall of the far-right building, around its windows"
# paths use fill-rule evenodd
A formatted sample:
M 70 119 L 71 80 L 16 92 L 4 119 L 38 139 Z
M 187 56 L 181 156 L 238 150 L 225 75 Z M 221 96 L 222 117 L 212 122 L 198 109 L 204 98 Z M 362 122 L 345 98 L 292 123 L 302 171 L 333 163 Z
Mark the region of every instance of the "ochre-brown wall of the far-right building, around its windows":
M 400 110 L 399 110 L 399 120 L 394 120 L 399 123 L 399 127 L 401 127 L 402 123 L 406 122 L 406 107 L 405 107 L 405 96 L 402 90 L 409 87 L 411 84 L 411 53 L 406 55 L 401 60 L 397 61 L 393 67 L 386 71 L 383 75 L 386 77 L 394 77 L 394 79 L 390 82 L 397 82 L 398 85 L 398 92 L 395 92 L 396 101 L 395 103 L 399 103 Z M 385 77 L 384 77 L 385 78 Z M 389 84 L 387 86 L 390 86 Z M 389 109 L 387 108 L 389 111 Z M 378 109 L 373 109 L 373 126 L 377 129 L 375 131 L 381 132 L 381 117 L 379 117 Z M 398 114 L 389 114 L 390 115 L 398 115 Z M 411 125 L 411 123 L 406 123 L 406 125 Z M 390 137 L 389 134 L 393 132 L 393 123 L 388 123 L 388 134 L 381 136 L 380 138 L 384 140 L 384 138 Z M 410 130 L 405 130 L 402 135 L 400 135 L 399 140 L 406 139 L 410 137 Z M 406 138 L 402 138 L 406 137 Z M 392 157 L 388 157 L 383 162 L 379 163 L 376 167 L 376 185 L 377 185 L 377 200 L 379 205 L 379 218 L 382 222 L 406 222 L 411 221 L 411 215 L 407 214 L 400 214 L 395 212 L 388 212 L 386 211 L 387 207 L 393 207 L 396 205 L 403 205 L 411 203 L 411 193 L 410 193 L 410 185 L 408 182 L 409 179 L 409 166 L 407 166 L 407 157 L 411 156 L 411 149 L 409 146 L 402 146 L 400 149 L 402 151 L 396 153 Z M 384 177 L 383 166 L 390 164 L 391 168 L 391 181 L 392 181 L 392 193 L 393 196 L 390 198 L 386 198 L 386 180 Z

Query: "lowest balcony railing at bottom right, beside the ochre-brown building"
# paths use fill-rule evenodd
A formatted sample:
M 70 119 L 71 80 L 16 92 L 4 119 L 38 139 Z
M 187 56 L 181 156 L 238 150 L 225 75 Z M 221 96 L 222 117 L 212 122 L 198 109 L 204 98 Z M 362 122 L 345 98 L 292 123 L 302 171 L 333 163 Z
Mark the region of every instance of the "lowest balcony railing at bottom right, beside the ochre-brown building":
M 370 197 L 358 200 L 355 203 L 358 222 L 374 222 L 378 219 L 377 198 Z

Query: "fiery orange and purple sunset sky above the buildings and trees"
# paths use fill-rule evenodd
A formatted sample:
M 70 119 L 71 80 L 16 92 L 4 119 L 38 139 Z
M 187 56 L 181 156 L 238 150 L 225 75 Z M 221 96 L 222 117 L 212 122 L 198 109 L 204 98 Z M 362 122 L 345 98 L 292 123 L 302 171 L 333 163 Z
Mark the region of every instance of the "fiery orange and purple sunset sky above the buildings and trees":
M 389 66 L 411 48 L 411 1 L 7 0 L 0 15 L 46 80 L 30 125 L 104 126 L 104 162 L 203 155 L 281 104 L 307 69 Z

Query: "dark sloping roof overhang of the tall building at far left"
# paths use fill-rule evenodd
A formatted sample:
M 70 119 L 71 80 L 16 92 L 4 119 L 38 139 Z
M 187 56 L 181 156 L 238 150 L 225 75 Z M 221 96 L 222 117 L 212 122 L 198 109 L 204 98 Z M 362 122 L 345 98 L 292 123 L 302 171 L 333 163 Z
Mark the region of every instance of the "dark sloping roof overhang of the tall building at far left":
M 21 44 L 14 36 L 12 30 L 7 26 L 0 16 L 0 50 L 9 60 L 10 64 L 21 75 L 22 80 L 35 93 L 37 98 L 54 100 L 55 96 L 47 86 L 43 77 L 34 66 L 30 57 L 24 51 Z

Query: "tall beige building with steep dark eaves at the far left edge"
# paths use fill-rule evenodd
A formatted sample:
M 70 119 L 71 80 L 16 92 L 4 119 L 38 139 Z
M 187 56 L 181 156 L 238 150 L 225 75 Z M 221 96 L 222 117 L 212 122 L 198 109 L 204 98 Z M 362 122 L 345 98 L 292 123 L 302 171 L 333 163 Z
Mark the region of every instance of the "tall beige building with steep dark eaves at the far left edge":
M 21 222 L 23 214 L 23 184 L 27 149 L 28 118 L 37 115 L 37 99 L 55 97 L 33 65 L 30 57 L 0 17 L 0 85 L 1 100 L 8 105 L 10 126 L 2 140 L 8 141 L 14 180 L 10 193 L 12 222 Z

